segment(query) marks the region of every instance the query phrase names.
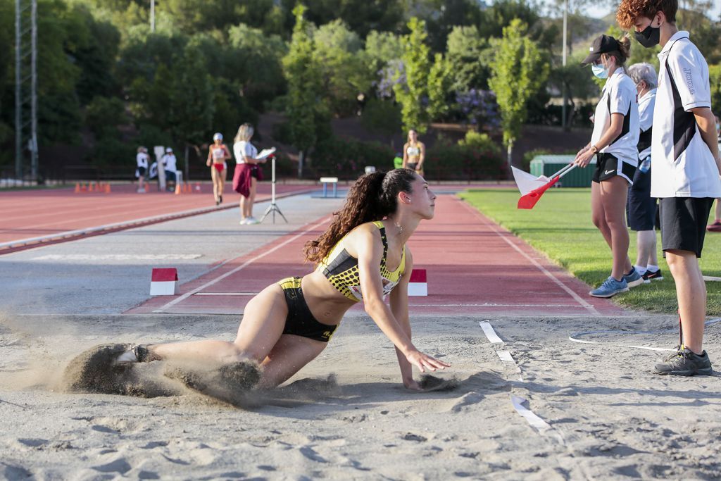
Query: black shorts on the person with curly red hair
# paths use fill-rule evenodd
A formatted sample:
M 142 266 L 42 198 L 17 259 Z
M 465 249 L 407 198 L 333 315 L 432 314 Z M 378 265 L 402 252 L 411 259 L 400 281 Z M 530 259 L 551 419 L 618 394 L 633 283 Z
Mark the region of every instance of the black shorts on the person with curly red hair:
M 661 249 L 688 250 L 701 257 L 709 212 L 709 197 L 666 197 L 658 199 L 661 221 Z

